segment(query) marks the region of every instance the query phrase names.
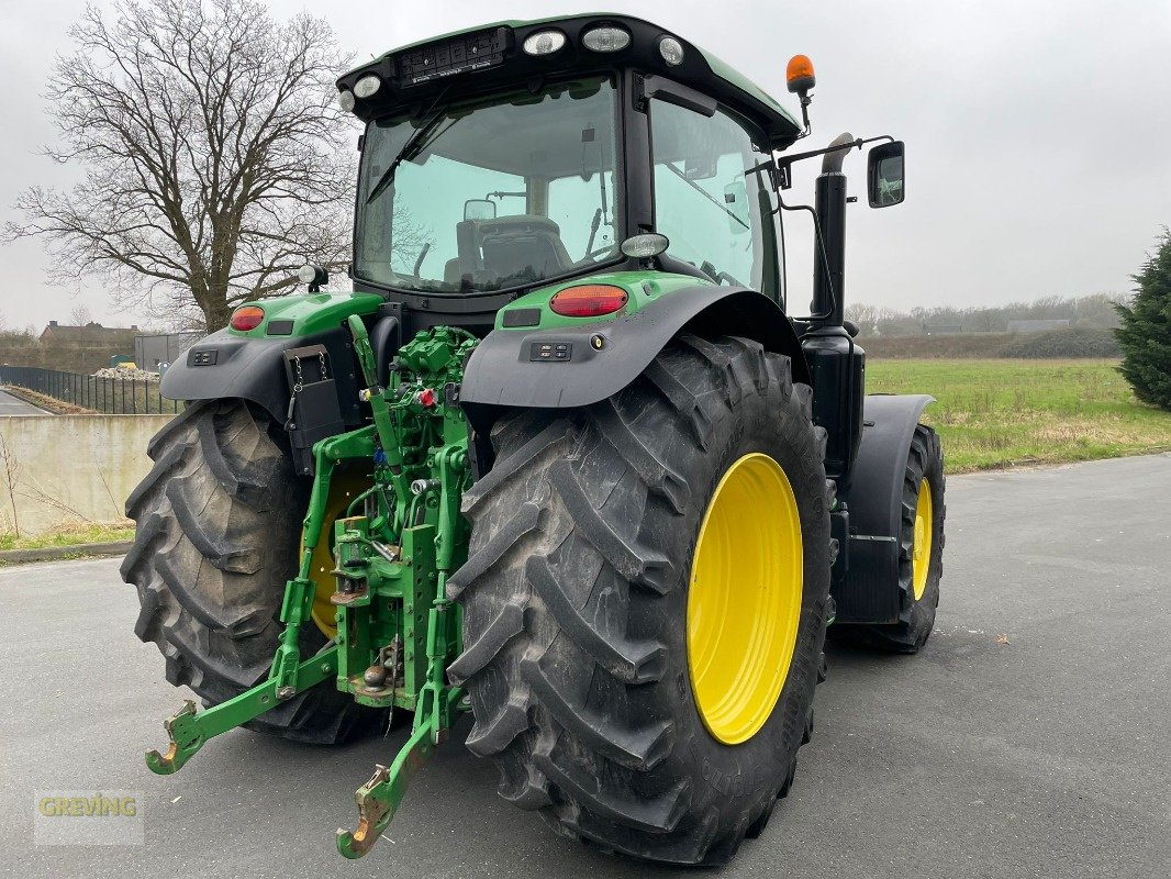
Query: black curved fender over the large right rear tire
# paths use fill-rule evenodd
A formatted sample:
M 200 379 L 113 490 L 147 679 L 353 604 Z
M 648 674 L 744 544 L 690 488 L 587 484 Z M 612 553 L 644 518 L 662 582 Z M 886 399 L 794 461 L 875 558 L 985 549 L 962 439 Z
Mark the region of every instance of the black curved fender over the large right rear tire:
M 472 354 L 460 398 L 484 434 L 507 408 L 575 409 L 618 393 L 679 333 L 738 335 L 809 369 L 793 325 L 768 297 L 742 287 L 687 287 L 615 320 L 552 329 L 497 329 Z M 542 346 L 554 356 L 541 357 Z M 563 357 L 556 357 L 563 353 Z

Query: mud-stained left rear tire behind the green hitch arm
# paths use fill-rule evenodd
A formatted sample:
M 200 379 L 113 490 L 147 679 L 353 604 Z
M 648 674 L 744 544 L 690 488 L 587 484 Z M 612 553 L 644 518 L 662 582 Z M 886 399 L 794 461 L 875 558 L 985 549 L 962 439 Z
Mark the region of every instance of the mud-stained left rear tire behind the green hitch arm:
M 268 675 L 309 486 L 294 475 L 280 425 L 237 400 L 187 407 L 148 454 L 155 466 L 126 500 L 137 530 L 122 565 L 138 590 L 135 634 L 158 646 L 167 681 L 218 704 Z M 311 622 L 301 627 L 302 656 L 324 643 Z M 247 725 L 331 744 L 379 714 L 322 686 Z

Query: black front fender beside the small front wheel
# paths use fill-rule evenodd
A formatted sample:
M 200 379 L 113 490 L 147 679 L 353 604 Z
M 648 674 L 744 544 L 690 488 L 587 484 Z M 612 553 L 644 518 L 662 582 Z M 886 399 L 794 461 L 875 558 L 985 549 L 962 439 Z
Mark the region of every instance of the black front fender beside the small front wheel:
M 903 476 L 919 416 L 934 397 L 875 394 L 863 406 L 862 443 L 848 495 L 849 546 L 833 595 L 838 622 L 897 622 Z

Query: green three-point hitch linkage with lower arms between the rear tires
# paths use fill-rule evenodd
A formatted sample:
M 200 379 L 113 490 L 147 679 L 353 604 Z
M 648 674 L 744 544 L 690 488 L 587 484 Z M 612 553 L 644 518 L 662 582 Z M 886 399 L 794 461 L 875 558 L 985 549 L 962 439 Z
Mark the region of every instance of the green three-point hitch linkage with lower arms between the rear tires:
M 369 308 L 379 297 L 288 297 L 276 314 L 313 318 L 323 307 L 334 326 L 347 308 Z M 267 304 L 266 304 L 267 305 Z M 322 319 L 324 320 L 324 319 Z M 310 321 L 320 327 L 316 319 Z M 389 388 L 375 384 L 374 355 L 362 320 L 347 320 L 371 406 L 367 427 L 322 440 L 309 509 L 302 527 L 301 565 L 288 580 L 280 619 L 285 624 L 268 679 L 239 696 L 197 711 L 193 702 L 165 723 L 170 748 L 150 751 L 148 766 L 178 771 L 212 737 L 258 717 L 299 693 L 331 680 L 362 704 L 415 711 L 411 738 L 388 770 L 379 766 L 356 795 L 358 826 L 337 832 L 348 858 L 364 854 L 393 817 L 408 782 L 436 745 L 447 738 L 464 690 L 446 681 L 463 650 L 460 615 L 446 595 L 447 578 L 467 558 L 468 526 L 460 498 L 471 485 L 467 424 L 457 402 L 463 363 L 475 347 L 471 334 L 437 327 L 418 333 L 399 350 Z M 448 393 L 451 390 L 451 393 Z M 330 479 L 345 462 L 372 462 L 372 485 L 334 523 L 337 592 L 336 643 L 315 656 L 300 653 L 301 627 L 310 624 L 313 551 L 326 539 Z

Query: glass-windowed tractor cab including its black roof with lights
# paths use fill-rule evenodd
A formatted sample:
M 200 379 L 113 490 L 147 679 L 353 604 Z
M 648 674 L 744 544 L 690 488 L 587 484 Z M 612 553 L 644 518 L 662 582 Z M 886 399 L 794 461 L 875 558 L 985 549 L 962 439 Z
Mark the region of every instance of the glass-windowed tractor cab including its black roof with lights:
M 389 53 L 338 88 L 367 123 L 357 289 L 485 329 L 535 287 L 648 266 L 783 301 L 773 151 L 802 129 L 670 32 L 505 22 Z M 623 251 L 651 232 L 665 251 Z

